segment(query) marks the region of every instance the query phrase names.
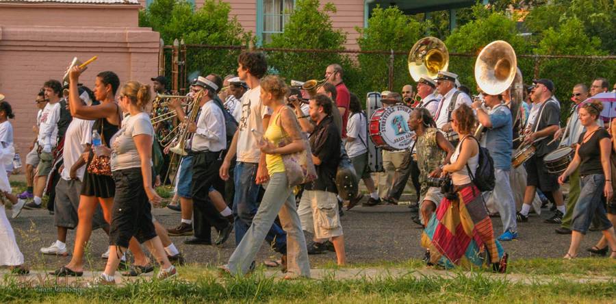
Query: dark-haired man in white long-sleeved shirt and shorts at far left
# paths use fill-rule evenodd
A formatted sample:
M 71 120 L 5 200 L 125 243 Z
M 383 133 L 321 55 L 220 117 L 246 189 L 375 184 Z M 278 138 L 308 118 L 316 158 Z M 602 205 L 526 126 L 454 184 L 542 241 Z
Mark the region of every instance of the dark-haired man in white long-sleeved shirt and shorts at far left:
M 39 209 L 41 197 L 47 183 L 47 175 L 53 166 L 53 149 L 57 144 L 57 121 L 60 120 L 60 94 L 62 85 L 60 81 L 49 80 L 43 85 L 47 105 L 42 110 L 40 127 L 38 129 L 37 143 L 40 149 L 38 167 L 34 178 L 34 201 L 25 204 L 24 209 Z

